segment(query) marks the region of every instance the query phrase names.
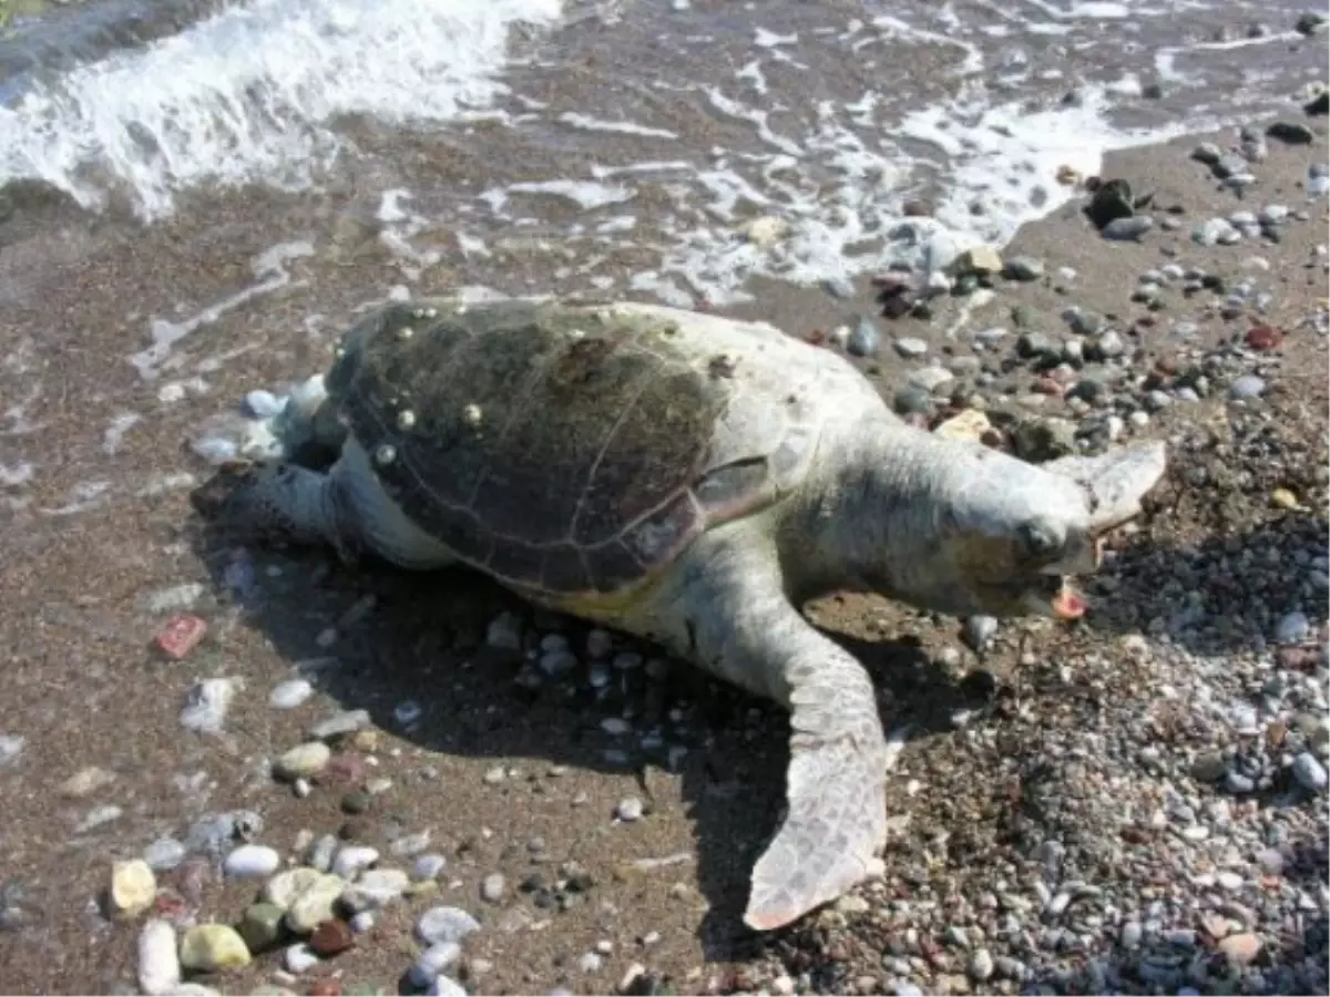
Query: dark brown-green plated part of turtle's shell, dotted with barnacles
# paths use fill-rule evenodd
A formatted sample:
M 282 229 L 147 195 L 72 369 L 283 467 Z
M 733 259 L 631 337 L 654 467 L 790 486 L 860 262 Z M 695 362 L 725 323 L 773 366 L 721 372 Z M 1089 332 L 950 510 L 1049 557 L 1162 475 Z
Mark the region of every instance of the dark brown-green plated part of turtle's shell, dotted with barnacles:
M 392 304 L 347 334 L 327 384 L 388 496 L 460 560 L 608 594 L 777 495 L 766 460 L 716 464 L 733 384 L 677 332 L 559 303 Z

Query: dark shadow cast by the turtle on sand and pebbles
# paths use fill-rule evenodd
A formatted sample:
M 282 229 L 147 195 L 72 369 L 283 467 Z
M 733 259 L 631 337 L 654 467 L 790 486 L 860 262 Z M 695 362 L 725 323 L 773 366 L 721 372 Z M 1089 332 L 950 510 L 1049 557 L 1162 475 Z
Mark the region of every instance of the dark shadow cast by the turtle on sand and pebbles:
M 254 631 L 342 709 L 367 711 L 375 727 L 428 752 L 528 772 L 557 766 L 630 776 L 648 812 L 662 790 L 677 794 L 693 836 L 688 861 L 696 861 L 704 901 L 704 953 L 728 962 L 761 950 L 766 936 L 747 929 L 742 913 L 753 864 L 785 803 L 789 720 L 778 706 L 622 635 L 616 654 L 640 655 L 640 665 L 610 665 L 608 682 L 596 686 L 581 653 L 588 623 L 544 613 L 467 569 L 346 566 L 321 549 L 239 542 L 198 512 L 184 536 L 234 626 Z M 500 618 L 519 622 L 520 647 L 493 646 L 489 631 Z M 910 736 L 927 736 L 950 730 L 947 718 L 962 705 L 975 705 L 975 690 L 943 675 L 916 643 L 826 633 L 864 662 L 879 690 L 891 687 L 888 728 L 895 714 L 908 715 Z M 551 634 L 577 651 L 573 671 L 540 667 L 540 643 Z M 606 731 L 604 720 L 624 717 L 632 736 Z M 511 795 L 520 800 L 516 790 Z M 668 903 L 661 893 L 670 879 L 686 880 L 686 871 L 629 889 Z

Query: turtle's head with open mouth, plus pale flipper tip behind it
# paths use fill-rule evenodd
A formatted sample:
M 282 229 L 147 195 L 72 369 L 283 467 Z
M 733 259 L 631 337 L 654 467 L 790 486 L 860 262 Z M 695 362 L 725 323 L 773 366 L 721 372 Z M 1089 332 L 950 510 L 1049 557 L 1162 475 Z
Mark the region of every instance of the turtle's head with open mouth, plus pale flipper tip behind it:
M 1100 566 L 1104 534 L 1140 513 L 1164 475 L 1165 448 L 1041 465 L 971 451 L 954 467 L 935 534 L 940 557 L 915 576 L 928 590 L 922 601 L 956 615 L 1075 619 L 1087 604 L 1068 576 Z

